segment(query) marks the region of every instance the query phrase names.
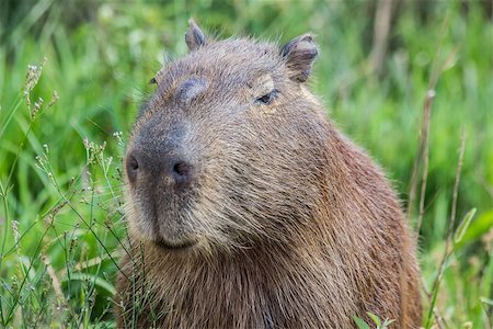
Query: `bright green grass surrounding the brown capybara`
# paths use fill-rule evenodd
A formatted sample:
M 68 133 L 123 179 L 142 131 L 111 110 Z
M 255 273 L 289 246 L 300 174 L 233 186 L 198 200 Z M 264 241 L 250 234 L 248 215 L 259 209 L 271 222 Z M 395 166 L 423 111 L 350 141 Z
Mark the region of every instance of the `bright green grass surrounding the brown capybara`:
M 163 55 L 186 53 L 183 34 L 194 16 L 225 37 L 285 42 L 313 32 L 321 52 L 312 89 L 343 131 L 386 168 L 404 203 L 425 97 L 437 77 L 420 230 L 423 326 L 439 319 L 444 328 L 490 328 L 493 24 L 486 7 L 402 1 L 383 71 L 376 75 L 371 1 L 3 1 L 0 327 L 114 327 L 114 279 L 126 238 L 125 139 Z M 414 226 L 424 170 L 419 163 Z

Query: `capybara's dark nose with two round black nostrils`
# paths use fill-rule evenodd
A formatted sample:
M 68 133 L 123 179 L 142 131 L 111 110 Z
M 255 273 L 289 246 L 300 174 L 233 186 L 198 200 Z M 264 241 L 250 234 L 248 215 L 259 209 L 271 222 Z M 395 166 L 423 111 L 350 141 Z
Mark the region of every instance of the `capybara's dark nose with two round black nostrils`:
M 186 189 L 192 183 L 193 166 L 181 157 L 153 155 L 150 157 L 137 150 L 127 155 L 126 170 L 130 183 L 139 177 L 146 177 L 152 182 L 164 181 L 176 190 Z

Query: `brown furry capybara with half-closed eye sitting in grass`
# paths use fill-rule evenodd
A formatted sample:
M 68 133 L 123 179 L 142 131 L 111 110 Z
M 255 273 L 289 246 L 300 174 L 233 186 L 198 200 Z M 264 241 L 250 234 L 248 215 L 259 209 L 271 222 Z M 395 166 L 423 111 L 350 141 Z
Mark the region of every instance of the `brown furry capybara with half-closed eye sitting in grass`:
M 126 151 L 118 327 L 417 328 L 415 239 L 308 90 L 312 36 L 215 41 L 191 20 L 185 42 Z

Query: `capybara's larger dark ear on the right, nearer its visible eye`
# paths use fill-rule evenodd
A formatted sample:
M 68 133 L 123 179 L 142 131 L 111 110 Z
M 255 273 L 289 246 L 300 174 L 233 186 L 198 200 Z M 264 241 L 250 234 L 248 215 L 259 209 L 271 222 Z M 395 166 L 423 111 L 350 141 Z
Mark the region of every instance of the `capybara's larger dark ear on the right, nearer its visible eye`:
M 280 56 L 286 60 L 290 71 L 289 77 L 298 82 L 305 82 L 308 79 L 318 54 L 319 49 L 310 34 L 295 37 L 280 48 Z

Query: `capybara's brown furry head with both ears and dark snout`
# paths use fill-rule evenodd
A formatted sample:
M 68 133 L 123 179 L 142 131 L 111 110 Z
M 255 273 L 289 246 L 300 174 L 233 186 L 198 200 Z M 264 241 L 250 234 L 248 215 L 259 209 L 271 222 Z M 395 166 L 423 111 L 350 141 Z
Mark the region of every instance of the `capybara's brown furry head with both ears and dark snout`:
M 126 155 L 130 230 L 170 252 L 289 243 L 317 211 L 328 125 L 303 87 L 310 35 L 207 39 L 152 79 Z

